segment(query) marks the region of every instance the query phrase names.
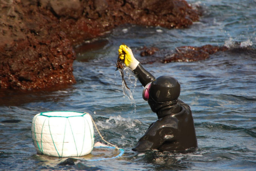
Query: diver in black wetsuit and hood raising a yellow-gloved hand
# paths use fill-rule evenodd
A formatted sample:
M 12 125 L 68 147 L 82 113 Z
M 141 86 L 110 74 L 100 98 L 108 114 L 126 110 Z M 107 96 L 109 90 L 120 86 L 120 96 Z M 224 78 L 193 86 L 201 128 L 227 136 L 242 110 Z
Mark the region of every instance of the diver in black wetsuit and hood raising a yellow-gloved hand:
M 132 69 L 143 85 L 142 97 L 158 117 L 132 150 L 185 151 L 197 147 L 192 112 L 178 98 L 180 83 L 168 75 L 155 78 L 134 58 L 132 50 L 126 45 L 121 45 L 118 52 L 120 59 L 125 56 L 125 65 Z

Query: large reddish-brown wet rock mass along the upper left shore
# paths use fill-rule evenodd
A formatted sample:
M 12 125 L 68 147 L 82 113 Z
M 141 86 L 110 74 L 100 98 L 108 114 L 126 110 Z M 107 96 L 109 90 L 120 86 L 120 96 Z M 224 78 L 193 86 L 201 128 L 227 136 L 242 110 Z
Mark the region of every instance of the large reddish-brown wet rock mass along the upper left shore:
M 0 0 L 0 88 L 75 83 L 74 45 L 125 23 L 183 28 L 198 16 L 183 0 Z

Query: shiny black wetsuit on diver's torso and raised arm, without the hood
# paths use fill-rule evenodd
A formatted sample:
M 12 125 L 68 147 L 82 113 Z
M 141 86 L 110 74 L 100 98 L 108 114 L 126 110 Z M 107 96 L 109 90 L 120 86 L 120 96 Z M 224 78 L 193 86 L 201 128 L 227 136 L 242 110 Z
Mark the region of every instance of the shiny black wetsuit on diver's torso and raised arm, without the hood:
M 143 86 L 155 81 L 142 65 L 138 65 L 133 73 Z M 150 88 L 151 89 L 151 88 Z M 178 95 L 179 96 L 179 95 Z M 178 98 L 178 97 L 177 97 Z M 153 122 L 133 151 L 157 149 L 163 151 L 184 151 L 197 147 L 196 132 L 190 107 L 179 98 L 167 103 L 148 102 L 158 120 Z

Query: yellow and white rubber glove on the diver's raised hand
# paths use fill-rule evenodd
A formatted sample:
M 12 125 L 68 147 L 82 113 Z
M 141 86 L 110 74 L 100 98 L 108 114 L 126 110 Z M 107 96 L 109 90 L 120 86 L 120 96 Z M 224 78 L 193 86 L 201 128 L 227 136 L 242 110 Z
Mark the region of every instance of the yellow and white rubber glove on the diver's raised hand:
M 123 60 L 125 56 L 124 64 L 131 70 L 134 70 L 139 65 L 140 62 L 134 58 L 132 50 L 125 44 L 119 46 L 118 52 L 118 57 L 120 59 Z

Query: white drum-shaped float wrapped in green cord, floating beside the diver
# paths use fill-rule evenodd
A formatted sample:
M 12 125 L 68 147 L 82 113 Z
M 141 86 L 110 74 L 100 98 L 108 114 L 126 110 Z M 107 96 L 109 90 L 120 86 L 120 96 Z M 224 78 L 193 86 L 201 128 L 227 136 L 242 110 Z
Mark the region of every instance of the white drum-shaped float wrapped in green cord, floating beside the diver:
M 89 113 L 43 112 L 31 126 L 37 153 L 57 157 L 83 156 L 92 152 L 94 131 Z

